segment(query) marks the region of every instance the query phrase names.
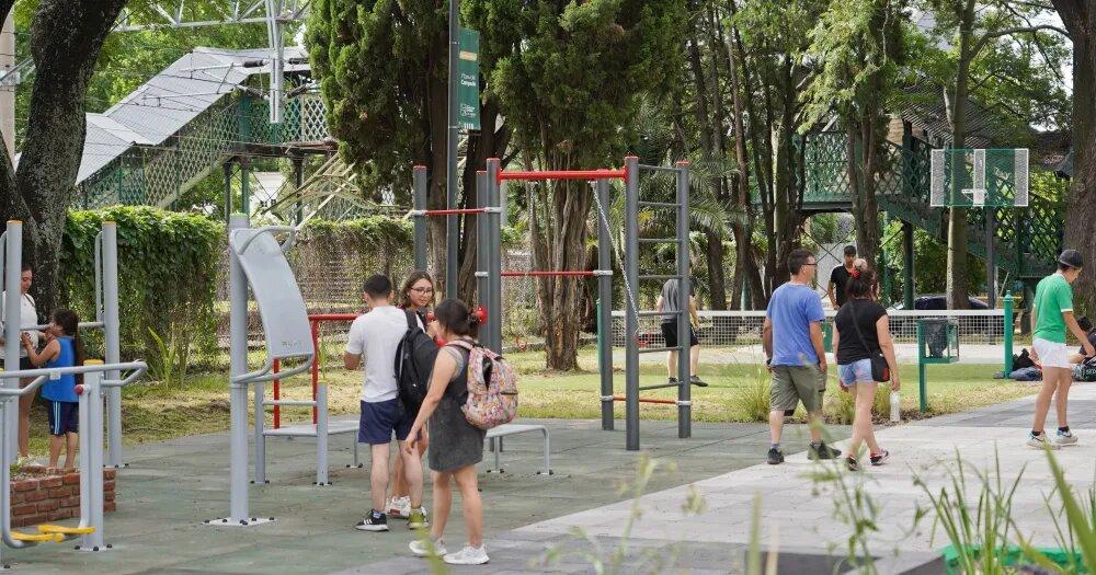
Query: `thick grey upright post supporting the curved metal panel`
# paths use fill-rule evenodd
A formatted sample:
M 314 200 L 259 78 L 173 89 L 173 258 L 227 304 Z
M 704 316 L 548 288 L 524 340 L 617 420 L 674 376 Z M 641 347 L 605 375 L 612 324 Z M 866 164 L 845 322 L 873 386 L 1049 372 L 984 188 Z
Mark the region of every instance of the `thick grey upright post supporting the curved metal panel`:
M 232 231 L 247 228 L 248 217 L 232 214 L 228 225 L 229 238 Z M 228 297 L 229 297 L 229 520 L 247 525 L 248 515 L 248 384 L 236 383 L 232 378 L 248 372 L 248 279 L 243 267 L 229 246 Z M 261 406 L 262 404 L 260 404 Z M 258 413 L 256 413 L 258 415 Z

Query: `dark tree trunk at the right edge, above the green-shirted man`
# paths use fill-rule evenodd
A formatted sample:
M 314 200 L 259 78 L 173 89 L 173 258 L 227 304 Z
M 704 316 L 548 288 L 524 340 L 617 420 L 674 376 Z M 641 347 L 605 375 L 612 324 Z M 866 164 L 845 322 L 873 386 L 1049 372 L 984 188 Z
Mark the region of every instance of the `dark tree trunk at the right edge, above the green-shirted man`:
M 1085 0 L 1054 0 L 1073 38 L 1073 180 L 1065 214 L 1065 246 L 1080 250 L 1096 266 L 1096 7 Z M 1096 281 L 1081 274 L 1074 290 L 1089 312 L 1096 306 Z

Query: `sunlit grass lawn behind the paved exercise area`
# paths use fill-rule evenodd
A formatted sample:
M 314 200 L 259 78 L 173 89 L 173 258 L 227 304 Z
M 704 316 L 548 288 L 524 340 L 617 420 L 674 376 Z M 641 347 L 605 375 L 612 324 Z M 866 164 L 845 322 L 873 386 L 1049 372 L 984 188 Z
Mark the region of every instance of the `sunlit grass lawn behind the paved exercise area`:
M 323 349 L 324 368 L 321 370 L 321 378 L 328 384 L 331 414 L 335 416 L 356 414 L 362 376 L 343 370 L 342 359 L 336 355 L 341 349 L 329 347 L 324 346 Z M 251 355 L 252 363 L 260 360 L 261 354 Z M 601 417 L 600 379 L 594 349 L 584 348 L 580 352 L 581 370 L 574 372 L 546 372 L 544 355 L 540 352 L 512 354 L 507 359 L 521 375 L 520 416 L 568 419 Z M 927 415 L 955 413 L 1036 392 L 1037 388 L 1030 383 L 993 379 L 992 373 L 998 369 L 1000 366 L 996 365 L 929 366 L 931 412 Z M 901 373 L 903 416 L 920 417 L 916 412 L 917 366 L 903 365 Z M 767 412 L 768 375 L 763 366 L 701 361 L 699 376 L 709 383 L 709 387 L 692 388 L 695 421 L 752 422 L 761 421 Z M 624 371 L 618 366 L 614 372 L 616 393 L 624 393 Z M 127 442 L 156 441 L 222 432 L 228 428 L 227 372 L 194 373 L 185 381 L 185 384 L 175 387 L 142 382 L 123 390 L 123 430 Z M 664 381 L 663 365 L 655 363 L 641 365 L 641 386 Z M 283 398 L 308 399 L 309 387 L 309 378 L 298 376 L 283 383 Z M 675 393 L 676 390 L 667 389 L 646 392 L 643 395 L 671 399 Z M 847 402 L 843 403 L 843 394 L 838 391 L 835 373 L 831 373 L 826 393 L 827 413 L 836 417 L 832 421 L 843 423 L 838 414 L 847 409 Z M 623 402 L 616 403 L 615 413 L 616 417 L 624 417 Z M 676 414 L 677 410 L 673 405 L 640 405 L 640 416 L 647 419 L 674 419 Z M 884 413 L 877 415 L 886 416 Z M 305 422 L 308 417 L 308 409 L 283 409 L 283 424 Z M 270 412 L 266 421 L 271 421 Z M 45 429 L 45 407 L 36 404 L 32 419 L 31 449 L 38 457 L 47 452 L 48 438 Z

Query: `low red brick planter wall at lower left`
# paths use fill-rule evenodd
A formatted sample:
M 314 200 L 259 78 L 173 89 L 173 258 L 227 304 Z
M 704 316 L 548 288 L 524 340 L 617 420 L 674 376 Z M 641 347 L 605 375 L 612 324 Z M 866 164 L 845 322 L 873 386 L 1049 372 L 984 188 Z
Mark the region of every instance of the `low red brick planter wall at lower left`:
M 25 527 L 80 517 L 80 472 L 27 465 L 30 476 L 11 482 L 11 525 Z M 103 470 L 103 511 L 113 511 L 113 469 Z

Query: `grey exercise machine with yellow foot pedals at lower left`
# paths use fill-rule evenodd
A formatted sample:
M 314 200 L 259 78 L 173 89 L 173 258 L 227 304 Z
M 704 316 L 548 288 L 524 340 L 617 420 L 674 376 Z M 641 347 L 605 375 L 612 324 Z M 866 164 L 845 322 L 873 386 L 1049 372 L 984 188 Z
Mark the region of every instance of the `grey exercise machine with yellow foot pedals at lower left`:
M 79 395 L 80 434 L 80 524 L 77 527 L 39 525 L 37 533 L 13 531 L 11 528 L 11 468 L 0 465 L 0 538 L 12 549 L 24 549 L 44 542 L 61 542 L 81 538 L 76 549 L 80 551 L 104 551 L 111 549 L 103 539 L 103 396 L 110 390 L 122 389 L 141 377 L 148 366 L 144 361 L 127 364 L 103 364 L 88 360 L 82 366 L 24 369 L 0 372 L 4 383 L 19 383 L 21 378 L 32 379 L 25 388 L 10 386 L 0 388 L 0 419 L 7 419 L 9 404 L 19 403 L 18 398 L 33 394 L 47 380 L 58 379 L 69 373 L 83 373 L 83 383 L 77 386 Z M 125 379 L 112 379 L 110 373 L 132 371 Z M 107 376 L 104 378 L 104 373 Z M 12 401 L 16 400 L 16 401 Z M 8 435 L 9 427 L 0 422 L 0 434 Z M 12 442 L 2 441 L 3 460 L 14 459 Z M 8 565 L 3 565 L 8 568 Z

